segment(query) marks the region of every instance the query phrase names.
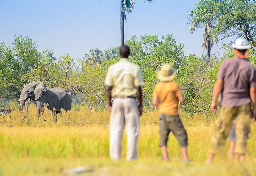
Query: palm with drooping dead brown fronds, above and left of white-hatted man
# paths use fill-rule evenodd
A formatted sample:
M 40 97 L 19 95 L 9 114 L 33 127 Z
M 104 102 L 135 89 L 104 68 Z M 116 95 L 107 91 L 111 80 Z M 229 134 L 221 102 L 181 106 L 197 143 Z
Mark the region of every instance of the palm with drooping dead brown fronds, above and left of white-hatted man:
M 193 17 L 194 11 L 189 11 L 188 14 Z M 193 21 L 193 23 L 189 27 L 189 31 L 193 33 L 194 31 L 199 29 L 201 26 L 203 26 L 203 44 L 202 44 L 203 52 L 205 51 L 205 49 L 207 49 L 207 56 L 208 56 L 208 59 L 210 60 L 210 51 L 213 46 L 213 37 L 211 36 L 211 30 L 212 30 L 211 19 L 209 19 L 207 23 L 203 23 L 199 20 Z M 217 36 L 215 36 L 215 40 L 217 42 L 218 40 Z

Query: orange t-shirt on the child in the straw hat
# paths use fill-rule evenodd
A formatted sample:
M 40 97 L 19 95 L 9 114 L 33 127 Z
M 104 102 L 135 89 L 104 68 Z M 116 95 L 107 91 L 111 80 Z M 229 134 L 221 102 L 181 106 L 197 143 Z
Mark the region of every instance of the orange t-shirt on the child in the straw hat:
M 179 115 L 178 97 L 181 95 L 180 87 L 176 82 L 159 82 L 156 84 L 153 97 L 160 99 L 159 114 Z

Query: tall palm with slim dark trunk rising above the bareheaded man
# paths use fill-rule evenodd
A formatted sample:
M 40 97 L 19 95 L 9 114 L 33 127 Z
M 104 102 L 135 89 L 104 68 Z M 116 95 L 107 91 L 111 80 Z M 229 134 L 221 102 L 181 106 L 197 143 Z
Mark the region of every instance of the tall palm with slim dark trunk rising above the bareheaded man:
M 144 2 L 152 2 L 153 0 L 144 0 Z M 121 18 L 120 18 L 120 29 L 121 29 L 121 46 L 124 45 L 124 20 L 126 21 L 126 14 L 132 12 L 134 6 L 134 0 L 121 0 Z

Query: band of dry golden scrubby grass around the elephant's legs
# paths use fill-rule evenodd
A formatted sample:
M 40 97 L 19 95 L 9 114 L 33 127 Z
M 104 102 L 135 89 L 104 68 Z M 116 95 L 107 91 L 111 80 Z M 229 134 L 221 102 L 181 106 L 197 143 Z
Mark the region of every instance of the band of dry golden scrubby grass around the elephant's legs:
M 0 116 L 0 126 L 9 127 L 61 127 L 61 126 L 91 126 L 91 125 L 108 125 L 108 111 L 89 110 L 86 106 L 72 108 L 70 111 L 61 111 L 57 115 L 57 123 L 53 123 L 53 112 L 44 107 L 40 117 L 37 117 L 36 106 L 31 104 L 28 111 L 20 111 L 19 108 L 14 109 L 10 114 Z M 200 113 L 191 116 L 189 113 L 180 110 L 180 118 L 185 126 L 205 126 L 206 120 Z M 214 123 L 212 120 L 211 125 Z M 140 117 L 141 125 L 158 125 L 158 112 L 145 109 Z

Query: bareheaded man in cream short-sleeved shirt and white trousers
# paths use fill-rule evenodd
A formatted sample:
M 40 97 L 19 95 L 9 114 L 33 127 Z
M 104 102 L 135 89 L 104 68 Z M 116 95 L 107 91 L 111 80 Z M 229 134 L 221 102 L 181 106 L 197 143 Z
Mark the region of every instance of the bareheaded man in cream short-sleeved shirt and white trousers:
M 137 140 L 142 114 L 143 79 L 140 68 L 130 63 L 130 49 L 123 45 L 119 51 L 120 61 L 109 67 L 105 84 L 108 86 L 110 112 L 109 155 L 113 160 L 121 159 L 121 144 L 124 126 L 127 134 L 126 160 L 137 159 Z M 115 97 L 112 105 L 112 96 Z M 138 104 L 135 98 L 138 98 Z

